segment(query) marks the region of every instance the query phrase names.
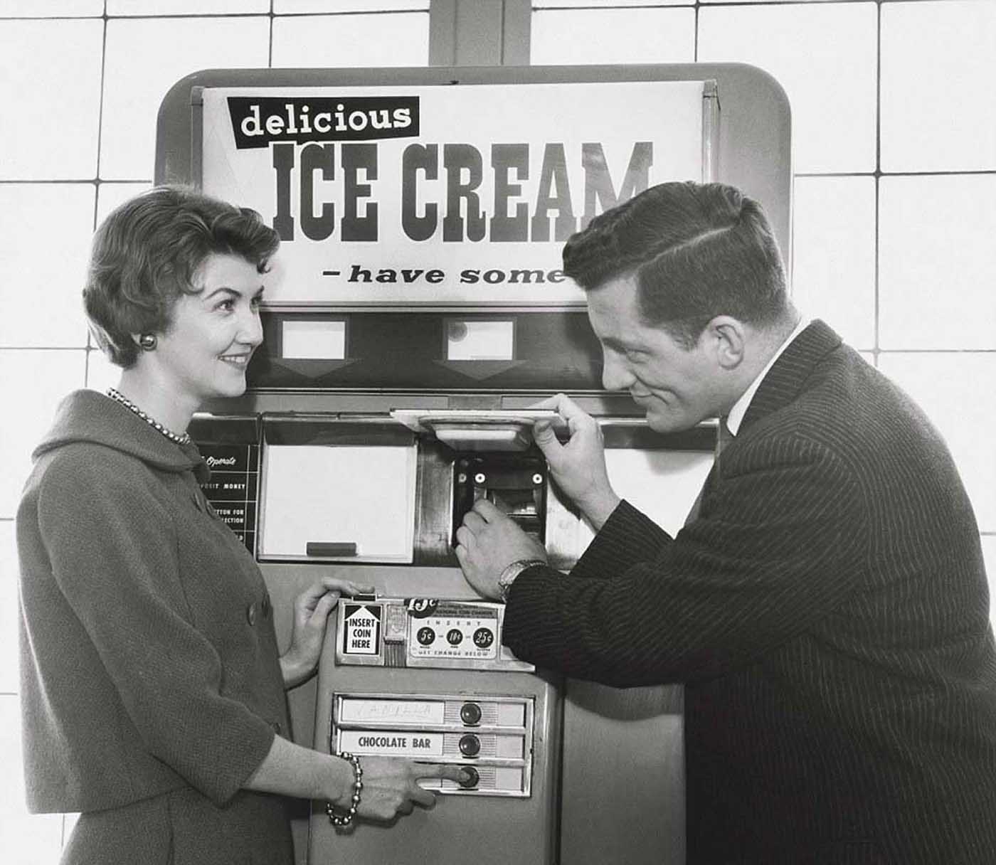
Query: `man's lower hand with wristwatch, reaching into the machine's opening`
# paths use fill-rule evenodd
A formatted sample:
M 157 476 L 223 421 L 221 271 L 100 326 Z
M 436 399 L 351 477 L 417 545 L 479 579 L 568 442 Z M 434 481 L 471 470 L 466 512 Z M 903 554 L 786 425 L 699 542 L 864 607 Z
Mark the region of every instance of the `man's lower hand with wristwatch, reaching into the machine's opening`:
M 498 577 L 520 558 L 547 560 L 547 550 L 486 499 L 478 499 L 456 530 L 456 558 L 478 594 L 498 598 Z

